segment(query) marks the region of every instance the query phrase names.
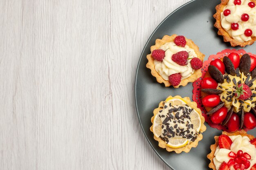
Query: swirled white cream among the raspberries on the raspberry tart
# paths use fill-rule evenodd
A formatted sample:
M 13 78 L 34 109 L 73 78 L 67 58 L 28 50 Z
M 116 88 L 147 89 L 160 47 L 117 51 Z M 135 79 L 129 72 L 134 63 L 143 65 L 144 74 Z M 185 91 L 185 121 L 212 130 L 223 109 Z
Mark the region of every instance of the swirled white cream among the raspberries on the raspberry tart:
M 191 67 L 190 61 L 193 57 L 197 57 L 197 55 L 193 49 L 189 48 L 188 45 L 181 47 L 177 46 L 174 42 L 168 42 L 160 46 L 159 49 L 165 51 L 165 57 L 162 62 L 154 60 L 154 64 L 155 70 L 163 79 L 168 80 L 169 75 L 175 73 L 181 73 L 181 79 L 186 79 L 194 73 L 194 69 Z M 191 59 L 188 60 L 188 64 L 186 66 L 181 66 L 172 60 L 172 55 L 180 51 L 187 51 L 189 53 L 189 58 Z

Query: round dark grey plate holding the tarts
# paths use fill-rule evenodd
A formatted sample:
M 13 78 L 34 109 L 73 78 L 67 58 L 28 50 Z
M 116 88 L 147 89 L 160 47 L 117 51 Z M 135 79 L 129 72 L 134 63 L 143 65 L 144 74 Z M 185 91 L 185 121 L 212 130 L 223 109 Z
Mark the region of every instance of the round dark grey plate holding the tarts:
M 192 99 L 193 86 L 189 83 L 185 87 L 174 89 L 157 83 L 150 70 L 146 68 L 146 55 L 150 53 L 150 46 L 155 44 L 157 38 L 172 34 L 184 35 L 193 40 L 199 46 L 200 51 L 205 54 L 204 60 L 207 60 L 209 55 L 216 54 L 223 49 L 240 49 L 223 42 L 222 36 L 217 34 L 218 30 L 213 26 L 215 19 L 212 17 L 216 12 L 217 4 L 220 4 L 220 0 L 192 0 L 168 15 L 148 39 L 139 60 L 135 82 L 135 102 L 139 122 L 153 150 L 173 170 L 209 169 L 207 154 L 210 152 L 210 145 L 214 143 L 213 137 L 220 135 L 222 131 L 211 128 L 206 123 L 207 130 L 203 133 L 202 141 L 189 153 L 176 154 L 159 148 L 158 142 L 153 139 L 153 133 L 149 130 L 153 110 L 169 95 L 187 96 Z M 246 46 L 244 49 L 247 52 L 256 53 L 255 45 Z M 255 135 L 256 129 L 248 133 Z

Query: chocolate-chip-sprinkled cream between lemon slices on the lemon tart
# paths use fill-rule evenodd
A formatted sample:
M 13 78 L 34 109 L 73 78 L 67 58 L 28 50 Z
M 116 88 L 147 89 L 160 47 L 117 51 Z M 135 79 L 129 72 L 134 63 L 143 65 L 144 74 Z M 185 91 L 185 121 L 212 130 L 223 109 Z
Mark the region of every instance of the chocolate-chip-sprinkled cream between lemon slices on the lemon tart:
M 175 99 L 177 100 L 177 99 Z M 159 110 L 159 117 L 162 121 L 162 135 L 160 138 L 168 144 L 171 138 L 186 138 L 188 144 L 195 141 L 198 132 L 194 129 L 191 122 L 190 113 L 196 112 L 185 102 L 180 100 L 182 104 L 172 105 L 171 100 L 164 103 L 162 110 Z

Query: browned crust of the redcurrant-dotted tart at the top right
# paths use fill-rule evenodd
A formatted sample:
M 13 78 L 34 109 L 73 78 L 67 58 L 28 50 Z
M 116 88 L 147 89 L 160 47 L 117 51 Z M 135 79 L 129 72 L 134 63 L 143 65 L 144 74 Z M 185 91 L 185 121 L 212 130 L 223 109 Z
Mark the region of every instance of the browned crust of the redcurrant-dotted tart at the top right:
M 251 0 L 251 1 L 256 3 L 256 0 Z M 256 41 L 256 37 L 252 37 L 252 40 L 247 41 L 247 42 L 239 42 L 239 41 L 234 40 L 232 37 L 230 37 L 229 34 L 227 33 L 227 31 L 225 31 L 225 29 L 222 28 L 220 14 L 228 2 L 229 2 L 229 0 L 221 0 L 221 3 L 216 6 L 216 13 L 213 15 L 213 17 L 216 19 L 214 26 L 219 29 L 218 35 L 222 35 L 224 41 L 230 42 L 231 46 L 245 47 L 247 45 L 252 45 Z

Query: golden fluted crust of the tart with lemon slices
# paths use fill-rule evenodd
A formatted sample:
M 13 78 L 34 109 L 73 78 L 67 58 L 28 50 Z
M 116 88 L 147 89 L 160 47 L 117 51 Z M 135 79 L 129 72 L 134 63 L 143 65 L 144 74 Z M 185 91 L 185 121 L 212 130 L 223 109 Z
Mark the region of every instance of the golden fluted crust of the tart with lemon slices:
M 169 97 L 172 97 L 172 96 L 169 96 Z M 167 97 L 166 99 L 168 99 L 169 97 Z M 182 97 L 177 95 L 177 96 L 174 96 L 173 98 L 175 98 L 175 99 L 183 99 L 184 101 L 186 101 L 187 105 L 189 105 L 191 108 L 195 109 L 199 113 L 200 118 L 202 120 L 201 121 L 200 134 L 198 134 L 198 137 L 195 139 L 195 141 L 193 141 L 190 144 L 187 144 L 186 146 L 183 146 L 181 148 L 171 148 L 171 147 L 168 147 L 167 144 L 160 137 L 155 137 L 155 135 L 154 135 L 154 139 L 159 142 L 158 146 L 160 148 L 166 148 L 166 150 L 168 152 L 175 151 L 176 153 L 181 153 L 183 151 L 183 152 L 188 153 L 191 150 L 191 148 L 197 147 L 198 146 L 198 142 L 203 139 L 202 132 L 204 132 L 206 130 L 206 126 L 204 125 L 204 117 L 202 116 L 201 110 L 197 107 L 196 102 L 191 102 L 189 97 L 182 98 Z M 151 123 L 152 124 L 153 124 L 153 120 L 154 120 L 155 115 L 157 115 L 159 110 L 161 110 L 160 107 L 164 106 L 164 104 L 163 104 L 164 102 L 165 101 L 160 102 L 158 108 L 156 108 L 153 111 L 154 116 L 151 117 Z M 150 127 L 150 131 L 153 132 L 153 125 Z

